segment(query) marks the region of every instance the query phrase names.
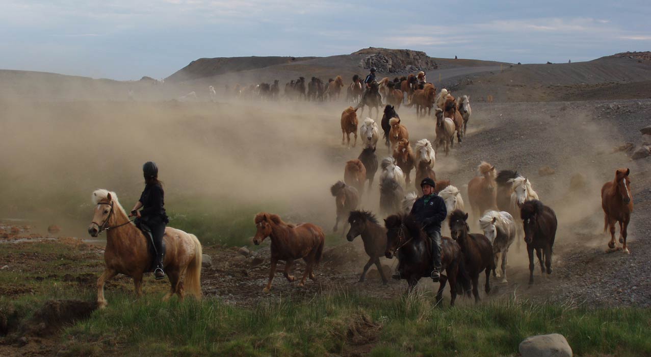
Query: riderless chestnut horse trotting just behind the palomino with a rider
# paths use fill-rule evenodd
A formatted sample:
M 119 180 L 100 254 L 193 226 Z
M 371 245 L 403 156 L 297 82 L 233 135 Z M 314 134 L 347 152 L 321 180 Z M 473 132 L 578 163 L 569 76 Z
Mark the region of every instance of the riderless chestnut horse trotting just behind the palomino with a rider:
M 312 281 L 316 281 L 314 266 L 321 262 L 326 242 L 326 235 L 321 227 L 312 223 L 299 223 L 298 225 L 284 223 L 277 214 L 266 212 L 256 214 L 253 221 L 256 226 L 253 244 L 258 246 L 264 238 L 271 239 L 271 268 L 267 286 L 262 289 L 263 293 L 271 291 L 271 281 L 279 260 L 285 261 L 283 275 L 288 281 L 296 280 L 289 274 L 289 271 L 294 260 L 301 258 L 305 261 L 305 273 L 298 286 L 303 287 L 305 279 L 308 277 Z

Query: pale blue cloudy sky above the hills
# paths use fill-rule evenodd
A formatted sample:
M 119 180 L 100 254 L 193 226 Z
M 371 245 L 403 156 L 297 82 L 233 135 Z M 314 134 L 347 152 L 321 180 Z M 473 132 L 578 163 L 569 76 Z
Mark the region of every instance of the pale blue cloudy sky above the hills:
M 651 50 L 651 1 L 0 0 L 0 69 L 165 78 L 202 57 L 408 48 L 546 63 Z

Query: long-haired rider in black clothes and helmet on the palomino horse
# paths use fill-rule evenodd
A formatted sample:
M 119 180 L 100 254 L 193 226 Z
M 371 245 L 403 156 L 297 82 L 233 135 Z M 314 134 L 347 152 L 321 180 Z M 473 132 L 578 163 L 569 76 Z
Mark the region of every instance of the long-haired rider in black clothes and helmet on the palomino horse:
M 156 269 L 154 277 L 156 279 L 165 278 L 163 272 L 163 235 L 165 235 L 165 225 L 169 223 L 167 214 L 165 214 L 165 201 L 163 196 L 163 186 L 158 180 L 158 166 L 152 161 L 143 165 L 143 175 L 145 176 L 145 190 L 140 195 L 140 199 L 133 206 L 130 216 L 139 218 L 152 231 L 154 239 L 154 250 L 156 250 Z M 140 210 L 140 208 L 143 210 Z

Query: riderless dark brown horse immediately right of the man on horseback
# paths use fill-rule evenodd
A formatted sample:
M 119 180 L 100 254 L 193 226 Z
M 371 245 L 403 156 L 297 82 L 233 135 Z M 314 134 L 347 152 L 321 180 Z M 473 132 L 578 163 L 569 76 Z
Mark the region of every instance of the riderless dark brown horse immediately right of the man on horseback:
M 461 247 L 464 256 L 465 270 L 473 281 L 473 295 L 475 303 L 479 302 L 479 274 L 486 272 L 486 285 L 484 291 L 490 293 L 490 273 L 495 270 L 495 259 L 493 259 L 493 247 L 485 235 L 469 233 L 468 214 L 462 210 L 454 210 L 448 216 L 450 234 L 452 239 Z

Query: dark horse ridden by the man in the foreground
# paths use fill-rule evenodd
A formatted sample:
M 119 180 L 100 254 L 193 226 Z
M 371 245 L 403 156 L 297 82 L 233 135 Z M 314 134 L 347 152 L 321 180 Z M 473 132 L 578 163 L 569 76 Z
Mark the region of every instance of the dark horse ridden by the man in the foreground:
M 432 268 L 432 241 L 422 231 L 420 223 L 413 217 L 395 214 L 384 220 L 387 227 L 387 250 L 385 256 L 389 259 L 395 255 L 398 258 L 400 278 L 406 279 L 408 292 L 421 278 L 429 278 Z M 441 274 L 439 290 L 436 293 L 437 304 L 443 300 L 443 289 L 450 281 L 450 306 L 454 306 L 457 295 L 457 282 L 467 288 L 467 275 L 464 258 L 457 242 L 447 236 L 441 238 L 441 265 L 446 274 Z M 463 292 L 459 292 L 463 293 Z

